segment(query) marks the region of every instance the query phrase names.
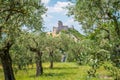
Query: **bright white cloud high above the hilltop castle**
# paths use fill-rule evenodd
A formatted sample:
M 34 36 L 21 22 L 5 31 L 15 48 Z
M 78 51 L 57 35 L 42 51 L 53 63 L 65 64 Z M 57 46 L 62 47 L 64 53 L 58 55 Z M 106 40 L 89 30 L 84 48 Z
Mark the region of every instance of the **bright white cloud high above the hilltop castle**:
M 47 7 L 48 13 L 65 13 L 66 10 L 64 9 L 68 5 L 72 5 L 71 2 L 60 2 L 58 1 L 53 7 Z

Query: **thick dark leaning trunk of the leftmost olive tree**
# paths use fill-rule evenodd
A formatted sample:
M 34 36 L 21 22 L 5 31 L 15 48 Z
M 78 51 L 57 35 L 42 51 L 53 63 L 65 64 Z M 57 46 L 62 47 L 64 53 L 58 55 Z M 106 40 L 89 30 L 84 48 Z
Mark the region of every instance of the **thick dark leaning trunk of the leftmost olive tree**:
M 8 43 L 0 52 L 0 59 L 4 71 L 5 80 L 15 80 L 13 68 L 12 68 L 12 60 L 9 54 L 9 48 L 11 45 Z

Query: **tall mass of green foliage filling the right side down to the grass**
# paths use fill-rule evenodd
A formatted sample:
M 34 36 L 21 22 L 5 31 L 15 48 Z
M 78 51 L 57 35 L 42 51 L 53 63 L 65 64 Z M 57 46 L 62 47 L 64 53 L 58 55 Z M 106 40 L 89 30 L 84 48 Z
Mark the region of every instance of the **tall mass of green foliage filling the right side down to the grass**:
M 94 44 L 87 49 L 83 46 L 85 52 L 89 51 L 87 53 L 91 55 L 92 70 L 88 73 L 95 76 L 96 69 L 107 61 L 117 69 L 109 68 L 116 73 L 113 75 L 115 80 L 119 80 L 120 0 L 76 0 L 75 5 L 68 9 L 68 15 L 74 15 L 82 25 L 86 39 Z

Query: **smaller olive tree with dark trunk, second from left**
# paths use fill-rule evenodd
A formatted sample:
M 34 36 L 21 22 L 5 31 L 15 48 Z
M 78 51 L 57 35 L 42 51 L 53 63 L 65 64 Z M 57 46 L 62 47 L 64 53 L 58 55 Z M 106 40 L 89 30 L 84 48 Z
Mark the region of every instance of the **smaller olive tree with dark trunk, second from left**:
M 42 66 L 42 55 L 45 51 L 45 41 L 46 34 L 45 33 L 34 33 L 28 34 L 29 39 L 26 43 L 27 48 L 35 53 L 35 61 L 36 61 L 36 76 L 43 74 L 43 66 Z

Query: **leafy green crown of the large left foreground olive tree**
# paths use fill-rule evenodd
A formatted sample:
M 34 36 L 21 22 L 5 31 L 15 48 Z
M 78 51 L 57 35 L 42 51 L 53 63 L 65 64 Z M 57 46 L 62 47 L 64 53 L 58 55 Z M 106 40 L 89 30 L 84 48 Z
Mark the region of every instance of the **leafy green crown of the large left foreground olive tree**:
M 42 26 L 41 15 L 45 8 L 39 0 L 1 1 L 0 8 L 1 35 L 4 33 L 8 38 L 15 39 L 24 25 L 34 30 L 40 30 Z

